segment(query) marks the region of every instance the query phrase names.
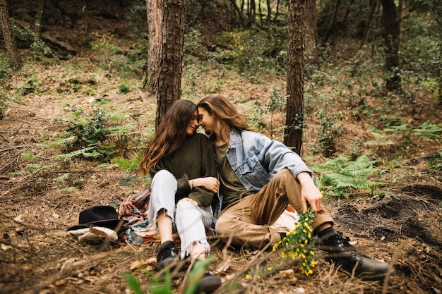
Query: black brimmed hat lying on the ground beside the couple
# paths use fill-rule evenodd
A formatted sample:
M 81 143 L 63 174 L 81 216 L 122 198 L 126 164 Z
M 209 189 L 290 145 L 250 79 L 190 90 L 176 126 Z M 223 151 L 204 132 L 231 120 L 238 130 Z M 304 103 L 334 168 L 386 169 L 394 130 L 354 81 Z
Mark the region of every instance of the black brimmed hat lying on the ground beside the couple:
M 119 219 L 117 211 L 112 206 L 95 206 L 80 212 L 78 225 L 71 226 L 68 231 L 78 230 L 79 228 L 88 228 L 90 226 L 103 226 L 114 230 L 118 226 Z

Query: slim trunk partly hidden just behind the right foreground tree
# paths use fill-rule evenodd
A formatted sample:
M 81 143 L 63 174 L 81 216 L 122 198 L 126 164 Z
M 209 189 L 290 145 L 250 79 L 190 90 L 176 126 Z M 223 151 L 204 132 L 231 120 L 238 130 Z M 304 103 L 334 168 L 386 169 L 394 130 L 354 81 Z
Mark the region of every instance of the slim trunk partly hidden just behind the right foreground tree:
M 306 53 L 307 63 L 319 67 L 318 59 L 318 30 L 316 29 L 316 0 L 306 3 Z

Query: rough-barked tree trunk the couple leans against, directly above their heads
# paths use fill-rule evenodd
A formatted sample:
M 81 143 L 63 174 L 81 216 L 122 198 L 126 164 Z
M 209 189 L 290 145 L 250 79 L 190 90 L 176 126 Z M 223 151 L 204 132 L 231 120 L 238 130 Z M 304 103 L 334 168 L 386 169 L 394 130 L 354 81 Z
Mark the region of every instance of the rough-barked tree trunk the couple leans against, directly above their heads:
M 186 0 L 162 0 L 156 127 L 181 96 L 185 8 Z

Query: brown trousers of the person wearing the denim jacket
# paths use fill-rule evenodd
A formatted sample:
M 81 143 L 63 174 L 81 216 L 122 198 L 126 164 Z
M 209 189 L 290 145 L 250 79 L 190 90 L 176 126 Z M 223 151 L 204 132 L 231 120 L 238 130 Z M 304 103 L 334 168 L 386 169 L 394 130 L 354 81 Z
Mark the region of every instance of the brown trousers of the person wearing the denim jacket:
M 260 191 L 223 209 L 215 231 L 225 243 L 261 249 L 281 240 L 280 234 L 270 226 L 287 204 L 302 212 L 301 185 L 288 169 L 283 169 Z M 333 226 L 334 221 L 321 204 L 312 223 L 313 231 L 323 223 Z

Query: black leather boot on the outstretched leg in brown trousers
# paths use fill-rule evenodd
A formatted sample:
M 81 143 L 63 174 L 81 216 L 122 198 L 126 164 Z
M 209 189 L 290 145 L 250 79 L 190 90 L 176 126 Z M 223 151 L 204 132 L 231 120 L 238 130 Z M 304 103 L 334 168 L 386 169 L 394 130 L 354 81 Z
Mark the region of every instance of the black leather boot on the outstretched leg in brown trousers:
M 319 249 L 328 252 L 325 260 L 335 262 L 342 269 L 354 276 L 366 280 L 381 280 L 394 274 L 385 262 L 378 262 L 370 257 L 362 255 L 348 243 L 347 239 L 338 233 L 321 238 Z

